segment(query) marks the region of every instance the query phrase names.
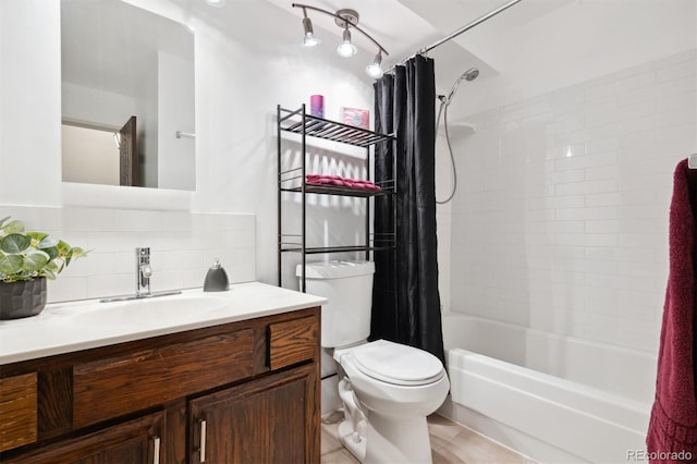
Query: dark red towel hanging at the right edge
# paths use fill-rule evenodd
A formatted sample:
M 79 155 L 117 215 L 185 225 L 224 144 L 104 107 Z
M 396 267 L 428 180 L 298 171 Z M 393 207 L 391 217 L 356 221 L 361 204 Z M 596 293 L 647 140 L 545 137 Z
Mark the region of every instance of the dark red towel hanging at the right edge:
M 697 170 L 687 160 L 673 176 L 670 274 L 663 306 L 656 400 L 646 437 L 651 463 L 697 462 L 695 303 Z

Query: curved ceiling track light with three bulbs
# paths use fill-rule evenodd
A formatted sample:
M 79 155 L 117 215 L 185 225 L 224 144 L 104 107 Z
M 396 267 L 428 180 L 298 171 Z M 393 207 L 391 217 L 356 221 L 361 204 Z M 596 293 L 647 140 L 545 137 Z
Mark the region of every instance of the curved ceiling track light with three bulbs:
M 358 52 L 358 49 L 355 45 L 353 45 L 351 40 L 351 30 L 350 28 L 354 28 L 360 34 L 363 34 L 366 38 L 368 38 L 376 47 L 378 47 L 378 52 L 375 56 L 372 63 L 366 66 L 366 73 L 374 78 L 379 78 L 382 76 L 382 68 L 380 66 L 382 62 L 382 56 L 389 56 L 388 51 L 382 47 L 376 39 L 370 37 L 368 33 L 358 27 L 358 13 L 355 10 L 344 9 L 339 10 L 337 13 L 332 13 L 327 10 L 322 10 L 317 7 L 310 7 L 308 4 L 293 3 L 293 8 L 302 8 L 303 9 L 303 30 L 305 36 L 303 38 L 303 45 L 306 47 L 314 47 L 320 44 L 320 39 L 315 37 L 315 32 L 313 29 L 313 22 L 307 16 L 307 10 L 318 11 L 320 13 L 330 15 L 334 17 L 334 22 L 341 28 L 343 28 L 342 34 L 342 42 L 337 47 L 337 53 L 340 57 L 351 58 Z

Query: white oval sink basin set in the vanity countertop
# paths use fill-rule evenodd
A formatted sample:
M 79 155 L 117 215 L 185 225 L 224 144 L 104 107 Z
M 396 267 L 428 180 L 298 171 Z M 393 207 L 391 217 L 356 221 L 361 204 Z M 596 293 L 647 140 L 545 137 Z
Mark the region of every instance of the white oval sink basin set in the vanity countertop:
M 162 321 L 197 319 L 201 313 L 221 309 L 228 301 L 213 295 L 170 295 L 114 303 L 98 303 L 70 313 L 70 323 L 149 326 Z

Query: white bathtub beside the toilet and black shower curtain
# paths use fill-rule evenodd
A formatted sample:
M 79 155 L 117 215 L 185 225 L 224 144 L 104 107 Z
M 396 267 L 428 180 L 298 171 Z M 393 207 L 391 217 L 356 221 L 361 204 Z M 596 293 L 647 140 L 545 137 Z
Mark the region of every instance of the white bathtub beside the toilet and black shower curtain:
M 439 412 L 540 463 L 626 463 L 646 449 L 650 354 L 449 313 Z

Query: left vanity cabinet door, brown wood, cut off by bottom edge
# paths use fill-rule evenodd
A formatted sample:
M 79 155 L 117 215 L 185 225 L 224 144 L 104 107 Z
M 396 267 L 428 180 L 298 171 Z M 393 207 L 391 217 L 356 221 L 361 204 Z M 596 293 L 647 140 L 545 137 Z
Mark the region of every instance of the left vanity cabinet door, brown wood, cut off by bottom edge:
M 95 406 L 99 407 L 99 406 Z M 129 420 L 86 436 L 66 439 L 40 450 L 3 456 L 2 463 L 136 464 L 164 462 L 160 453 L 163 413 Z

